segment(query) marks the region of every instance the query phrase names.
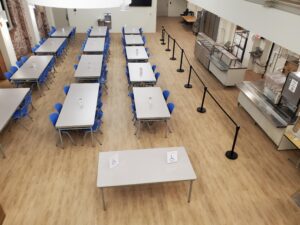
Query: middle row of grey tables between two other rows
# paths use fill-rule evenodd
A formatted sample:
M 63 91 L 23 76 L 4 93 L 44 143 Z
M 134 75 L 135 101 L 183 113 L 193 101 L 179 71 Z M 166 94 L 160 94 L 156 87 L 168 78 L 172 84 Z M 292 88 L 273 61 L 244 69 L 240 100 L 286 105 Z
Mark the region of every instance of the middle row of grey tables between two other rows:
M 78 82 L 99 80 L 104 63 L 106 37 L 107 27 L 92 28 L 74 73 Z M 95 122 L 99 88 L 99 83 L 72 83 L 70 85 L 55 126 L 59 131 L 62 147 L 62 132 L 70 130 L 90 129 L 93 145 L 92 126 Z

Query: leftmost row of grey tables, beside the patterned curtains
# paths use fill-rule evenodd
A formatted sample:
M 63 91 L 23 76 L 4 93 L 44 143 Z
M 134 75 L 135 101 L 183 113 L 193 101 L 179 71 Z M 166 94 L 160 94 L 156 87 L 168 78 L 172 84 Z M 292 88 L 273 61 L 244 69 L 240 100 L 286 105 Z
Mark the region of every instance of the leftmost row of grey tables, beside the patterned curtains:
M 13 83 L 36 83 L 40 90 L 38 80 L 53 56 L 57 55 L 59 48 L 71 36 L 74 27 L 58 28 L 13 74 Z M 4 130 L 11 117 L 21 105 L 30 88 L 3 88 L 0 89 L 0 132 Z M 0 151 L 4 155 L 2 146 Z

